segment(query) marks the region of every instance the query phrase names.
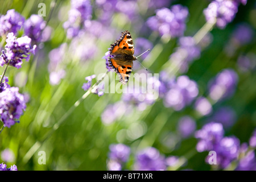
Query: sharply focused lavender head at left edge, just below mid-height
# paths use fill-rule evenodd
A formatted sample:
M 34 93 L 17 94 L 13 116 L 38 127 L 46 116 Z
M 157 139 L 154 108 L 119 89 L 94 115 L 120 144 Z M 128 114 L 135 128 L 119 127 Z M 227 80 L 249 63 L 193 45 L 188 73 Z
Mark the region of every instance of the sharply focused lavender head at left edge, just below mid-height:
M 26 109 L 24 97 L 18 91 L 19 88 L 11 87 L 0 93 L 0 118 L 5 127 L 19 122 L 20 115 Z

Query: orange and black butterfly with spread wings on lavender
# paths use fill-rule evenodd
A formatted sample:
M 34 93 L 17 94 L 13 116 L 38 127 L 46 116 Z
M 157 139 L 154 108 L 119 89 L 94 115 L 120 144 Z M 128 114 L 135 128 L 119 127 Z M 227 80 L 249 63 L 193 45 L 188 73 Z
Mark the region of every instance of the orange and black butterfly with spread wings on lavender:
M 133 39 L 130 32 L 123 31 L 120 39 L 115 40 L 110 46 L 109 67 L 115 70 L 119 81 L 126 84 L 133 68 L 133 61 L 137 60 L 137 57 L 134 56 Z

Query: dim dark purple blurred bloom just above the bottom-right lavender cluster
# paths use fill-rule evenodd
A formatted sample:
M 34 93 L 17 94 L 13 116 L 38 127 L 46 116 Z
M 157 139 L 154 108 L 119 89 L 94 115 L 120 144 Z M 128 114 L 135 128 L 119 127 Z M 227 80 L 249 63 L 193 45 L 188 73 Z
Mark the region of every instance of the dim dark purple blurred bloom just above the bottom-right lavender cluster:
M 236 121 L 236 113 L 231 107 L 221 107 L 213 114 L 211 120 L 221 123 L 224 129 L 228 129 Z

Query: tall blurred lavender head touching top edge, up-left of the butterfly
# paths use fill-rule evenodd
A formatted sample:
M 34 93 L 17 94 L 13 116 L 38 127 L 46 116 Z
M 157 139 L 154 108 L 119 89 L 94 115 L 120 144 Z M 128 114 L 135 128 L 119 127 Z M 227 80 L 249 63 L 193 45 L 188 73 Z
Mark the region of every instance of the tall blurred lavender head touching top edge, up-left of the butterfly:
M 67 30 L 69 39 L 77 36 L 84 22 L 92 18 L 92 5 L 89 0 L 72 0 L 71 10 L 68 12 L 68 20 L 63 27 Z

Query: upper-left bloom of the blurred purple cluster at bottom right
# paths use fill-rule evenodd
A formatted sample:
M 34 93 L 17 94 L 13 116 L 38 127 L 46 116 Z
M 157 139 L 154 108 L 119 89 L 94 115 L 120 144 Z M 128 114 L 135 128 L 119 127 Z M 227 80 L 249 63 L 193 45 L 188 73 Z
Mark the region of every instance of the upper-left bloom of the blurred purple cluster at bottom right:
M 214 150 L 214 147 L 221 141 L 223 136 L 224 130 L 221 123 L 207 123 L 195 133 L 195 137 L 199 139 L 196 150 L 199 152 Z

